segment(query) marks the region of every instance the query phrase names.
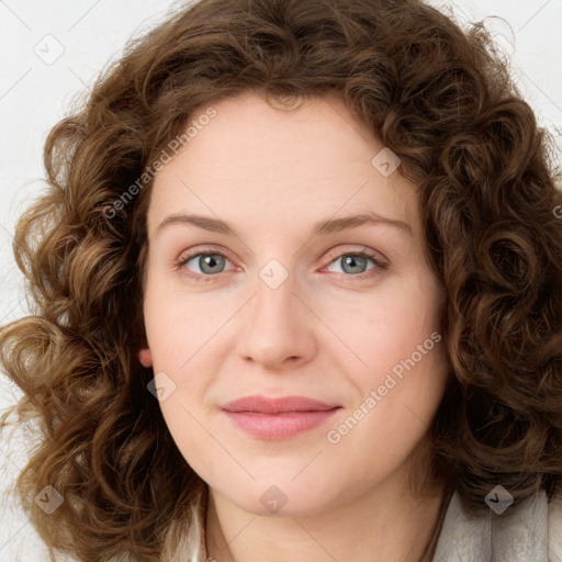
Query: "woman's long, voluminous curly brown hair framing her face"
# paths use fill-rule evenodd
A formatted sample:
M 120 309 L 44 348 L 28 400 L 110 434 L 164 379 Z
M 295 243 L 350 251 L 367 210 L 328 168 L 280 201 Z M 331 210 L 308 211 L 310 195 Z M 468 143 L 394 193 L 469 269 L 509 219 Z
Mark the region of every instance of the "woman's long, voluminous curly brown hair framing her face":
M 453 369 L 432 476 L 471 512 L 496 484 L 516 503 L 560 486 L 562 194 L 484 25 L 422 0 L 201 0 L 132 40 L 54 126 L 48 190 L 16 227 L 33 307 L 0 334 L 24 393 L 1 427 L 14 408 L 38 422 L 16 490 L 52 560 L 170 560 L 199 540 L 205 484 L 137 360 L 150 171 L 196 110 L 249 90 L 337 93 L 417 186 Z M 50 515 L 46 485 L 64 497 Z

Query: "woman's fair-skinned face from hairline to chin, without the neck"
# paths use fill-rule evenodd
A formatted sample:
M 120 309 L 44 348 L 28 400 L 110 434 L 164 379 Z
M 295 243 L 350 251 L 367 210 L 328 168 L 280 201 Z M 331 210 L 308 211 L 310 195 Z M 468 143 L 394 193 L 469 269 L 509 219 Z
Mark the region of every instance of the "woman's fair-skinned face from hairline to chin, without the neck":
M 139 358 L 215 493 L 321 513 L 404 479 L 449 371 L 443 293 L 414 187 L 341 101 L 214 110 L 155 179 Z M 322 405 L 227 406 L 256 395 Z

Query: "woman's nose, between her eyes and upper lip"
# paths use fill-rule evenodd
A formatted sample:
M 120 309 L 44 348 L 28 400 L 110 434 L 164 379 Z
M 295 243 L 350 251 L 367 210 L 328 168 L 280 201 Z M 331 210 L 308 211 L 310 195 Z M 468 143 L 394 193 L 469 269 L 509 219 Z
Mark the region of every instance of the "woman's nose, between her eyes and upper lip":
M 279 286 L 258 278 L 245 307 L 237 352 L 245 361 L 279 370 L 303 364 L 316 353 L 314 314 L 289 276 Z

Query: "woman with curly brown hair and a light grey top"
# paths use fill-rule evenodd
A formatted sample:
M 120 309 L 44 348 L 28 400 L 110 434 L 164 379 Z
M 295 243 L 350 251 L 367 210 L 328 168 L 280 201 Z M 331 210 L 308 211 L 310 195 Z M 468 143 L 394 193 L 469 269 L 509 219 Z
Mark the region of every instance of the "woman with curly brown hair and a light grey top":
M 45 145 L 19 492 L 79 560 L 562 555 L 562 196 L 480 26 L 203 0 Z M 38 507 L 41 509 L 38 509 Z

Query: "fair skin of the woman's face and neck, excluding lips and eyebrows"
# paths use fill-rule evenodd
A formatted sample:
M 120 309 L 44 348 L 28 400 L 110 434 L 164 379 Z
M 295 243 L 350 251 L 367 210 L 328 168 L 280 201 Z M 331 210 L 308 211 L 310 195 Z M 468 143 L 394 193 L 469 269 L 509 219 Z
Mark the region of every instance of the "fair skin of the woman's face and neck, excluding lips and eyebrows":
M 155 179 L 148 347 L 139 352 L 176 385 L 160 407 L 209 484 L 207 555 L 419 560 L 443 486 L 414 495 L 408 475 L 427 467 L 422 447 L 449 373 L 442 340 L 378 393 L 375 407 L 339 442 L 327 439 L 438 331 L 443 291 L 425 259 L 415 186 L 400 171 L 375 169 L 383 145 L 339 99 L 312 98 L 288 111 L 252 92 L 213 106 L 216 116 Z M 411 231 L 378 223 L 310 236 L 317 221 L 366 212 Z M 189 223 L 158 228 L 181 213 L 220 217 L 237 236 Z M 386 268 L 367 259 L 349 272 L 342 258 L 363 248 Z M 199 257 L 178 265 L 189 252 L 217 250 L 227 259 L 211 273 Z M 272 259 L 289 273 L 276 289 L 259 277 Z M 195 281 L 204 271 L 210 281 Z M 220 409 L 250 394 L 304 395 L 341 408 L 297 437 L 257 439 Z M 273 485 L 286 498 L 274 514 L 260 501 Z

